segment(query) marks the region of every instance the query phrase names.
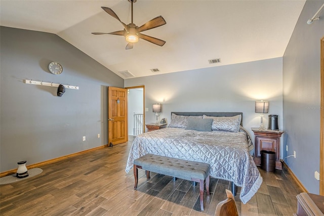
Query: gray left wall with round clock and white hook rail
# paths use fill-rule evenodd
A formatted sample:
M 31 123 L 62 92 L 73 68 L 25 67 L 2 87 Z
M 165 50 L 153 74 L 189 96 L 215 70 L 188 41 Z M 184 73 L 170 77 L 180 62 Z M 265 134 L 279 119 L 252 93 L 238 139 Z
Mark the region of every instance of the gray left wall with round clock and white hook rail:
M 55 34 L 1 27 L 0 171 L 107 144 L 107 86 L 124 80 Z M 64 71 L 52 75 L 51 61 Z M 24 79 L 78 86 L 27 85 Z M 97 138 L 97 134 L 101 138 Z M 82 141 L 86 136 L 86 141 Z

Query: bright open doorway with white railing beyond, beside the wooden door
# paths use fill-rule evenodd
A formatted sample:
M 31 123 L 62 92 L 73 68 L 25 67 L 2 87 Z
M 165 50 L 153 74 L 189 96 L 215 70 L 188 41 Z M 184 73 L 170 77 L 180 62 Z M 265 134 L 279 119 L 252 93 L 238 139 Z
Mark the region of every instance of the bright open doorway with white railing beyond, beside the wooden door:
M 144 86 L 127 87 L 128 135 L 137 136 L 145 131 Z

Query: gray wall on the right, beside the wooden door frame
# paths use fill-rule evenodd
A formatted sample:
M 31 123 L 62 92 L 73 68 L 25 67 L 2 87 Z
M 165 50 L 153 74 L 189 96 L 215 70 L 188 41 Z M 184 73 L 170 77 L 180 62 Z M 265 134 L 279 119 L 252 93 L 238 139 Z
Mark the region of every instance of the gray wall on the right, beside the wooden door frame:
M 285 160 L 310 193 L 319 193 L 320 39 L 324 20 L 310 19 L 323 1 L 307 1 L 283 57 Z M 320 13 L 324 15 L 324 10 Z

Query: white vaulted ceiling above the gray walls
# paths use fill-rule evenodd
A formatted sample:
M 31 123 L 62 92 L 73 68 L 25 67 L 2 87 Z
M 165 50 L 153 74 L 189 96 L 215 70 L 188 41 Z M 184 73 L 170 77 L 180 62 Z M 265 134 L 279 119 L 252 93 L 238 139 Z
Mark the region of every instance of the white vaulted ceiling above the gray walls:
M 55 33 L 118 76 L 123 77 L 118 71 L 129 70 L 143 77 L 281 57 L 304 4 L 304 0 L 138 0 L 134 23 L 141 26 L 163 16 L 166 25 L 143 33 L 167 43 L 160 47 L 140 40 L 132 50 L 125 50 L 124 37 L 91 34 L 123 30 L 101 6 L 128 24 L 127 0 L 1 0 L 0 25 Z M 209 64 L 214 58 L 221 58 L 221 63 Z M 151 68 L 160 71 L 152 73 Z

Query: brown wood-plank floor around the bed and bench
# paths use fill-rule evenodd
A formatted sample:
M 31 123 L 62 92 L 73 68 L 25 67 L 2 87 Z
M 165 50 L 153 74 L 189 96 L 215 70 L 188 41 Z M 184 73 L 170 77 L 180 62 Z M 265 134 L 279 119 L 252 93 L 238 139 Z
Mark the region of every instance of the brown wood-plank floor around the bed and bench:
M 134 190 L 133 170 L 125 172 L 132 139 L 113 147 L 97 149 L 43 167 L 43 172 L 0 187 L 1 215 L 214 215 L 226 199 L 229 182 L 211 178 L 211 196 L 205 194 L 200 211 L 199 184 L 139 171 Z M 292 215 L 296 195 L 302 192 L 284 170 L 259 169 L 263 183 L 247 204 L 235 202 L 239 215 Z

